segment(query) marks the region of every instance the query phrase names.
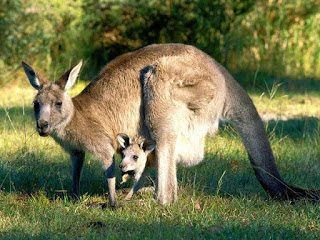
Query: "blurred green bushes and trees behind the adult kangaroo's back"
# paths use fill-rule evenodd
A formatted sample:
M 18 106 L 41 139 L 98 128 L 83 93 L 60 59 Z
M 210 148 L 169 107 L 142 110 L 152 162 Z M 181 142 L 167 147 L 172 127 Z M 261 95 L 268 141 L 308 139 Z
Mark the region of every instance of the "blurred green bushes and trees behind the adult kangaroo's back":
M 116 56 L 152 43 L 202 49 L 244 85 L 257 74 L 320 76 L 320 2 L 302 0 L 0 0 L 0 83 L 21 60 L 57 77 L 86 61 L 90 80 Z

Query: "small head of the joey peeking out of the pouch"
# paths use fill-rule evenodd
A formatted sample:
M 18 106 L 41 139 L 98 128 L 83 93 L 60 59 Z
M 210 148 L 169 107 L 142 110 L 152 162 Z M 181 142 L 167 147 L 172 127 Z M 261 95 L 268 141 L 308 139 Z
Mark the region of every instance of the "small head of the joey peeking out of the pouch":
M 118 134 L 117 139 L 122 149 L 122 161 L 119 164 L 122 172 L 142 172 L 146 166 L 147 157 L 156 146 L 152 139 L 132 141 L 126 134 Z

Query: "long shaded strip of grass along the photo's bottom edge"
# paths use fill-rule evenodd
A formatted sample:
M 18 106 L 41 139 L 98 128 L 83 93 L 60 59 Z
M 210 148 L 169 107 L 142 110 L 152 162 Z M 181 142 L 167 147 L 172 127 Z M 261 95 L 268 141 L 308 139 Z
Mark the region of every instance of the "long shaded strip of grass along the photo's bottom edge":
M 70 213 L 69 213 L 70 215 Z M 67 220 L 67 219 L 66 219 Z M 73 224 L 73 225 L 72 225 Z M 50 229 L 41 224 L 36 232 L 13 229 L 0 233 L 1 239 L 310 239 L 310 232 L 298 227 L 278 226 L 272 222 L 252 220 L 250 223 L 222 222 L 221 225 L 201 228 L 168 221 L 150 222 L 139 219 L 124 220 L 113 215 L 112 219 L 99 221 L 67 221 L 62 229 Z M 32 230 L 31 230 L 32 231 Z

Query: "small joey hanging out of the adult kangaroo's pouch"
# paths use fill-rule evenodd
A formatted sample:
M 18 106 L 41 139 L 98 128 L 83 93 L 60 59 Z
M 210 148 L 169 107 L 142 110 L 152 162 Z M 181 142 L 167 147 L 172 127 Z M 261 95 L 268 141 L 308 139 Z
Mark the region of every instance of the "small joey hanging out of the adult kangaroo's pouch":
M 153 164 L 153 157 L 149 155 L 156 146 L 152 139 L 134 139 L 120 133 L 117 135 L 119 144 L 122 147 L 122 160 L 119 167 L 122 171 L 122 183 L 126 182 L 130 175 L 134 174 L 134 184 L 125 197 L 129 200 L 141 187 L 145 178 L 145 168 Z

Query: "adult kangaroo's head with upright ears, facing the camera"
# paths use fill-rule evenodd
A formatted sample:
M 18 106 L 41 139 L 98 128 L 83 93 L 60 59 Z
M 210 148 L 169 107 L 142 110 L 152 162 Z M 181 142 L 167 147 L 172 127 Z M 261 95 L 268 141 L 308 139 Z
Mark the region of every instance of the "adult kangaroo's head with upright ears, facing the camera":
M 73 115 L 73 103 L 67 91 L 77 79 L 82 60 L 55 83 L 48 81 L 25 62 L 22 62 L 22 66 L 30 84 L 38 90 L 33 101 L 37 131 L 40 136 L 48 136 L 67 124 Z

